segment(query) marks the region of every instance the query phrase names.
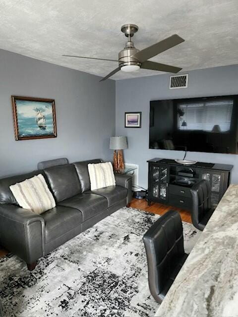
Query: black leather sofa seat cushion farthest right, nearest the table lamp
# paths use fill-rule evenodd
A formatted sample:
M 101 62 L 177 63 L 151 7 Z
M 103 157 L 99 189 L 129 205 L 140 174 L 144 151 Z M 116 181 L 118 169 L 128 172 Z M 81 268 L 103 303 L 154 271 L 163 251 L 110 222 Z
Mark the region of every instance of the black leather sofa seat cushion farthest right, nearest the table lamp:
M 105 197 L 108 201 L 108 207 L 113 206 L 120 200 L 126 198 L 127 188 L 121 186 L 109 186 L 105 188 L 95 189 L 90 191 L 90 193 L 100 195 Z

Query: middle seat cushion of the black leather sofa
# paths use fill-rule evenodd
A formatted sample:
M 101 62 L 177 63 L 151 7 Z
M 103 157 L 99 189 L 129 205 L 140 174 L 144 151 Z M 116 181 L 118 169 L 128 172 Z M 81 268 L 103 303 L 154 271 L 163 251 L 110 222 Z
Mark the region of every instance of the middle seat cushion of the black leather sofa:
M 60 206 L 70 207 L 81 211 L 83 221 L 97 215 L 98 213 L 107 210 L 107 200 L 95 194 L 80 194 L 59 203 Z

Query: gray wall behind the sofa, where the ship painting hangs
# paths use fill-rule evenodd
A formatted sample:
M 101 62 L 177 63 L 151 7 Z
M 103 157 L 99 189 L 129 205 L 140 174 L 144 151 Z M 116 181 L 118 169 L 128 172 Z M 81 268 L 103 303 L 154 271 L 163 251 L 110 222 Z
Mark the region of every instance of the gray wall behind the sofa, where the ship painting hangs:
M 115 81 L 0 50 L 0 177 L 36 169 L 37 162 L 112 159 Z M 15 141 L 11 95 L 52 98 L 58 137 Z

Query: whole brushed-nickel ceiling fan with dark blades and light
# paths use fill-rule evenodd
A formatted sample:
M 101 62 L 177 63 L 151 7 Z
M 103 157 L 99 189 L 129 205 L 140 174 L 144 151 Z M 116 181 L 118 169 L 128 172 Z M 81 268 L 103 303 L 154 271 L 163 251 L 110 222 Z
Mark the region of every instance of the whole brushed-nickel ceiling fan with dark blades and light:
M 169 50 L 170 48 L 173 48 L 174 46 L 184 42 L 184 40 L 180 38 L 179 35 L 174 34 L 163 41 L 160 41 L 154 45 L 149 46 L 146 49 L 139 51 L 134 47 L 134 43 L 131 41 L 131 37 L 137 31 L 138 31 L 138 26 L 135 24 L 122 25 L 121 32 L 125 34 L 125 36 L 128 38 L 128 41 L 126 42 L 124 49 L 119 52 L 118 59 L 96 58 L 96 57 L 75 56 L 75 55 L 62 55 L 62 56 L 119 62 L 119 66 L 116 69 L 114 69 L 111 73 L 109 73 L 107 76 L 102 78 L 100 81 L 108 79 L 109 77 L 116 74 L 119 70 L 122 70 L 125 72 L 132 72 L 140 68 L 144 68 L 144 69 L 165 71 L 170 73 L 178 73 L 179 70 L 182 69 L 179 67 L 161 64 L 161 63 L 148 60 L 151 57 L 159 53 L 162 53 L 166 50 Z

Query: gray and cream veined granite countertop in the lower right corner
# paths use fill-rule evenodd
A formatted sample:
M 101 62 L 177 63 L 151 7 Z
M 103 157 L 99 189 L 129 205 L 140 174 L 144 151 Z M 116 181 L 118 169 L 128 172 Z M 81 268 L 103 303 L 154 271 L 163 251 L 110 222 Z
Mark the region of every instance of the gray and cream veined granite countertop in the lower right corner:
M 238 185 L 230 185 L 155 316 L 238 317 Z

